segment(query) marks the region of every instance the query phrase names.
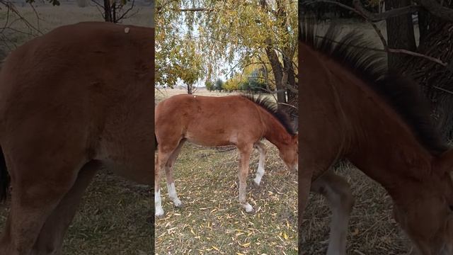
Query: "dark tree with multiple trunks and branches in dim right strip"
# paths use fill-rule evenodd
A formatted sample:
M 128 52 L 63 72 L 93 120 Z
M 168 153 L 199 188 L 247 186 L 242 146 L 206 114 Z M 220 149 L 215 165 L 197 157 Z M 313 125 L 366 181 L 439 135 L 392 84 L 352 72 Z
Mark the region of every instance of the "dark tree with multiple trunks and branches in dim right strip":
M 444 138 L 453 136 L 453 1 L 391 0 L 386 11 L 372 13 L 359 0 L 342 6 L 369 22 L 386 20 L 389 68 L 398 69 L 422 86 L 432 116 Z M 340 6 L 338 4 L 338 6 Z M 304 4 L 301 4 L 304 9 Z M 418 16 L 419 45 L 415 44 L 412 15 Z

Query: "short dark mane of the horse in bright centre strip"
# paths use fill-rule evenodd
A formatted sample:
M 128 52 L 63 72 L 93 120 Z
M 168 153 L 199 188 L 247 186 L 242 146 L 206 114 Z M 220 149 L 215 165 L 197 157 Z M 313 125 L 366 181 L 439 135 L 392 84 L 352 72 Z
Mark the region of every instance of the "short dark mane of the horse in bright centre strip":
M 283 125 L 285 130 L 290 135 L 296 135 L 291 120 L 289 120 L 289 116 L 287 115 L 287 113 L 285 113 L 285 111 L 277 108 L 277 103 L 271 101 L 269 98 L 263 95 L 255 96 L 255 94 L 242 94 L 241 96 L 248 99 L 249 101 L 252 101 L 253 103 L 256 103 L 265 111 L 268 111 L 268 113 L 273 115 L 278 120 L 278 122 Z

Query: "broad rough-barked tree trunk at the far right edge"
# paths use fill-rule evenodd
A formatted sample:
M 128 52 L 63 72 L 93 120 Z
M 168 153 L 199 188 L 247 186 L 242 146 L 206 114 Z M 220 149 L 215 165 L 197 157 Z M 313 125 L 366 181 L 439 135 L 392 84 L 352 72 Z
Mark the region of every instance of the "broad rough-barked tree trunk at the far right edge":
M 447 1 L 445 1 L 447 2 Z M 453 1 L 446 7 L 453 8 Z M 442 62 L 453 62 L 453 22 L 444 21 L 431 13 L 419 13 L 420 45 L 418 52 L 435 57 Z M 420 18 L 419 18 L 420 21 Z M 432 118 L 444 140 L 453 137 L 453 72 L 430 60 L 409 57 L 403 72 L 410 74 L 420 84 L 432 107 Z

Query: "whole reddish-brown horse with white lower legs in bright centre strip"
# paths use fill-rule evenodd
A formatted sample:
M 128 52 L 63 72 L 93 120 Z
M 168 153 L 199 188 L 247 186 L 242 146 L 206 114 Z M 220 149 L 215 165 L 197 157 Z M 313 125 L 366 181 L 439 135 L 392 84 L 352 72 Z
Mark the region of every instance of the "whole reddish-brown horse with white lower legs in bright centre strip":
M 246 200 L 246 179 L 253 147 L 260 152 L 258 171 L 253 183 L 260 185 L 264 174 L 265 147 L 269 140 L 280 152 L 290 170 L 297 170 L 298 138 L 289 118 L 276 104 L 264 97 L 178 95 L 161 101 L 156 107 L 154 128 L 158 142 L 154 176 L 156 216 L 164 215 L 161 205 L 160 173 L 165 169 L 168 197 L 178 207 L 181 202 L 173 181 L 173 164 L 184 142 L 202 146 L 236 145 L 239 166 L 239 203 L 246 212 L 254 212 Z

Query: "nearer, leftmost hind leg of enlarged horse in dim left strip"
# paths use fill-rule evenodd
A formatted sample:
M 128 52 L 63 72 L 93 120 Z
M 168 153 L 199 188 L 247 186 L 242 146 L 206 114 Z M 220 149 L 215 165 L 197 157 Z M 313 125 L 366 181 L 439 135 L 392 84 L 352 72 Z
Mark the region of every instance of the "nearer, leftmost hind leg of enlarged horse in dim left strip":
M 47 217 L 76 180 L 75 167 L 36 165 L 16 164 L 10 171 L 13 196 L 0 254 L 29 255 Z

